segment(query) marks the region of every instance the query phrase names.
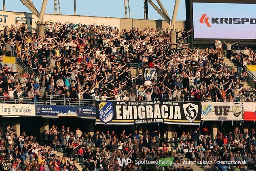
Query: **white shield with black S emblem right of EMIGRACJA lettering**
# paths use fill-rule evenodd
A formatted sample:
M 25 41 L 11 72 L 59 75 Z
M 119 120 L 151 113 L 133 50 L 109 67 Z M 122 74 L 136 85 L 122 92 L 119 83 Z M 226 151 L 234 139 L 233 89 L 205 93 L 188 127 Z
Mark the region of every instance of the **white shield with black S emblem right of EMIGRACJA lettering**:
M 183 104 L 184 114 L 188 120 L 188 122 L 193 122 L 197 117 L 199 107 L 193 103 Z

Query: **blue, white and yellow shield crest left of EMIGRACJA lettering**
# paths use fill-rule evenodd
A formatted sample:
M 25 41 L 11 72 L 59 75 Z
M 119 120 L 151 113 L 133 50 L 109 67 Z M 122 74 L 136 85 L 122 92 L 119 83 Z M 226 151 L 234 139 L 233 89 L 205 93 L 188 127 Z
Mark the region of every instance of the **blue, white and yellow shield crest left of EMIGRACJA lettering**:
M 111 122 L 113 117 L 114 111 L 112 102 L 99 103 L 99 120 L 107 124 L 108 122 Z

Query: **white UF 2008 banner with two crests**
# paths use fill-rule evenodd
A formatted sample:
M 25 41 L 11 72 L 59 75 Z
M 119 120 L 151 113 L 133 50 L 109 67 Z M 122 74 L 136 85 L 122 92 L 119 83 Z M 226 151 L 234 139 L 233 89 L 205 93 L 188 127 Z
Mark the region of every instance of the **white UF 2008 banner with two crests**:
M 202 102 L 203 120 L 242 120 L 241 103 Z

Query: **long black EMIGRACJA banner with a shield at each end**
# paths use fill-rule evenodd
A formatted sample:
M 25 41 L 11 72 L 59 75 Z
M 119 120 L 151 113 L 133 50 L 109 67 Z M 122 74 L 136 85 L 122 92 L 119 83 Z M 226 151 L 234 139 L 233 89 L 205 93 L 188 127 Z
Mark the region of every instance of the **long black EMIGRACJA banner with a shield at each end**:
M 96 124 L 165 123 L 200 125 L 200 103 L 159 101 L 96 101 Z

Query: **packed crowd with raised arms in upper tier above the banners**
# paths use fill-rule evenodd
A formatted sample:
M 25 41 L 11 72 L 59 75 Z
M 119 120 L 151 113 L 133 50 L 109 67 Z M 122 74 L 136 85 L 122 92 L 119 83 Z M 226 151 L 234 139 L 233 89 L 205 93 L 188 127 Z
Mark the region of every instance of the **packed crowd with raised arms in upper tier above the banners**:
M 44 103 L 47 95 L 125 101 L 254 101 L 244 83 L 248 77 L 245 66 L 256 65 L 256 53 L 248 47 L 242 50 L 239 42 L 220 40 L 215 40 L 215 48 L 190 49 L 190 32 L 177 31 L 177 43 L 171 44 L 167 29 L 112 30 L 104 25 L 85 28 L 48 22 L 45 36 L 40 37 L 16 21 L 4 27 L 1 58 L 16 56 L 35 74 L 17 73 L 1 65 L 0 96 L 42 99 Z M 224 56 L 235 63 L 237 71 L 226 66 Z M 142 82 L 140 69 L 146 67 L 159 69 L 157 80 Z M 137 73 L 132 75 L 131 70 Z

